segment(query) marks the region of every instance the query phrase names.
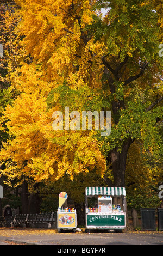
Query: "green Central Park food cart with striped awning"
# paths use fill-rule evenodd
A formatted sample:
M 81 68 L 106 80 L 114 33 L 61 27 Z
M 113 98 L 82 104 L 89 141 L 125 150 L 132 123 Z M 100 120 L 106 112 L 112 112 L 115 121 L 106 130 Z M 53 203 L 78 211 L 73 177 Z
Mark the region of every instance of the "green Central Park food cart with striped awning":
M 126 228 L 124 187 L 85 188 L 85 228 L 87 233 L 91 229 L 108 229 L 114 232 Z

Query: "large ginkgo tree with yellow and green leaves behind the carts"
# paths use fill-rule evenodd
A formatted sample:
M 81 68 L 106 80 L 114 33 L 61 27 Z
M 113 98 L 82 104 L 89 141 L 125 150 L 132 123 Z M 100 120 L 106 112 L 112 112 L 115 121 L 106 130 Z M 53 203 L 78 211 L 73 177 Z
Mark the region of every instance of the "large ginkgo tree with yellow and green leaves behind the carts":
M 24 57 L 30 54 L 32 63 L 21 62 L 11 77 L 21 94 L 5 109 L 15 138 L 4 145 L 1 159 L 15 164 L 4 172 L 40 182 L 96 170 L 108 185 L 125 186 L 127 153 L 136 139 L 155 157 L 162 150 L 159 3 L 15 2 Z M 111 111 L 111 134 L 54 131 L 52 115 L 65 106 L 80 113 Z M 110 162 L 113 180 L 105 175 Z

